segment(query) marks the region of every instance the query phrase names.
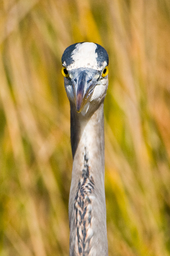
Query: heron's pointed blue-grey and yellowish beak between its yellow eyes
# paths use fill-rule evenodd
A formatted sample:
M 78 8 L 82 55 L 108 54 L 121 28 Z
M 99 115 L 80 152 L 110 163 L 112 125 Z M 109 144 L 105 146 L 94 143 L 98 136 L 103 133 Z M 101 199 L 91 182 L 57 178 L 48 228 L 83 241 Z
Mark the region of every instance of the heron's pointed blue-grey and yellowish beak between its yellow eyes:
M 83 70 L 78 74 L 77 83 L 75 85 L 77 90 L 75 90 L 74 94 L 76 110 L 78 113 L 81 112 L 81 110 L 87 103 L 87 100 L 93 93 L 97 80 L 95 77 L 96 72 L 98 73 L 97 70 L 93 70 L 93 72 Z M 99 75 L 97 77 L 99 77 Z

